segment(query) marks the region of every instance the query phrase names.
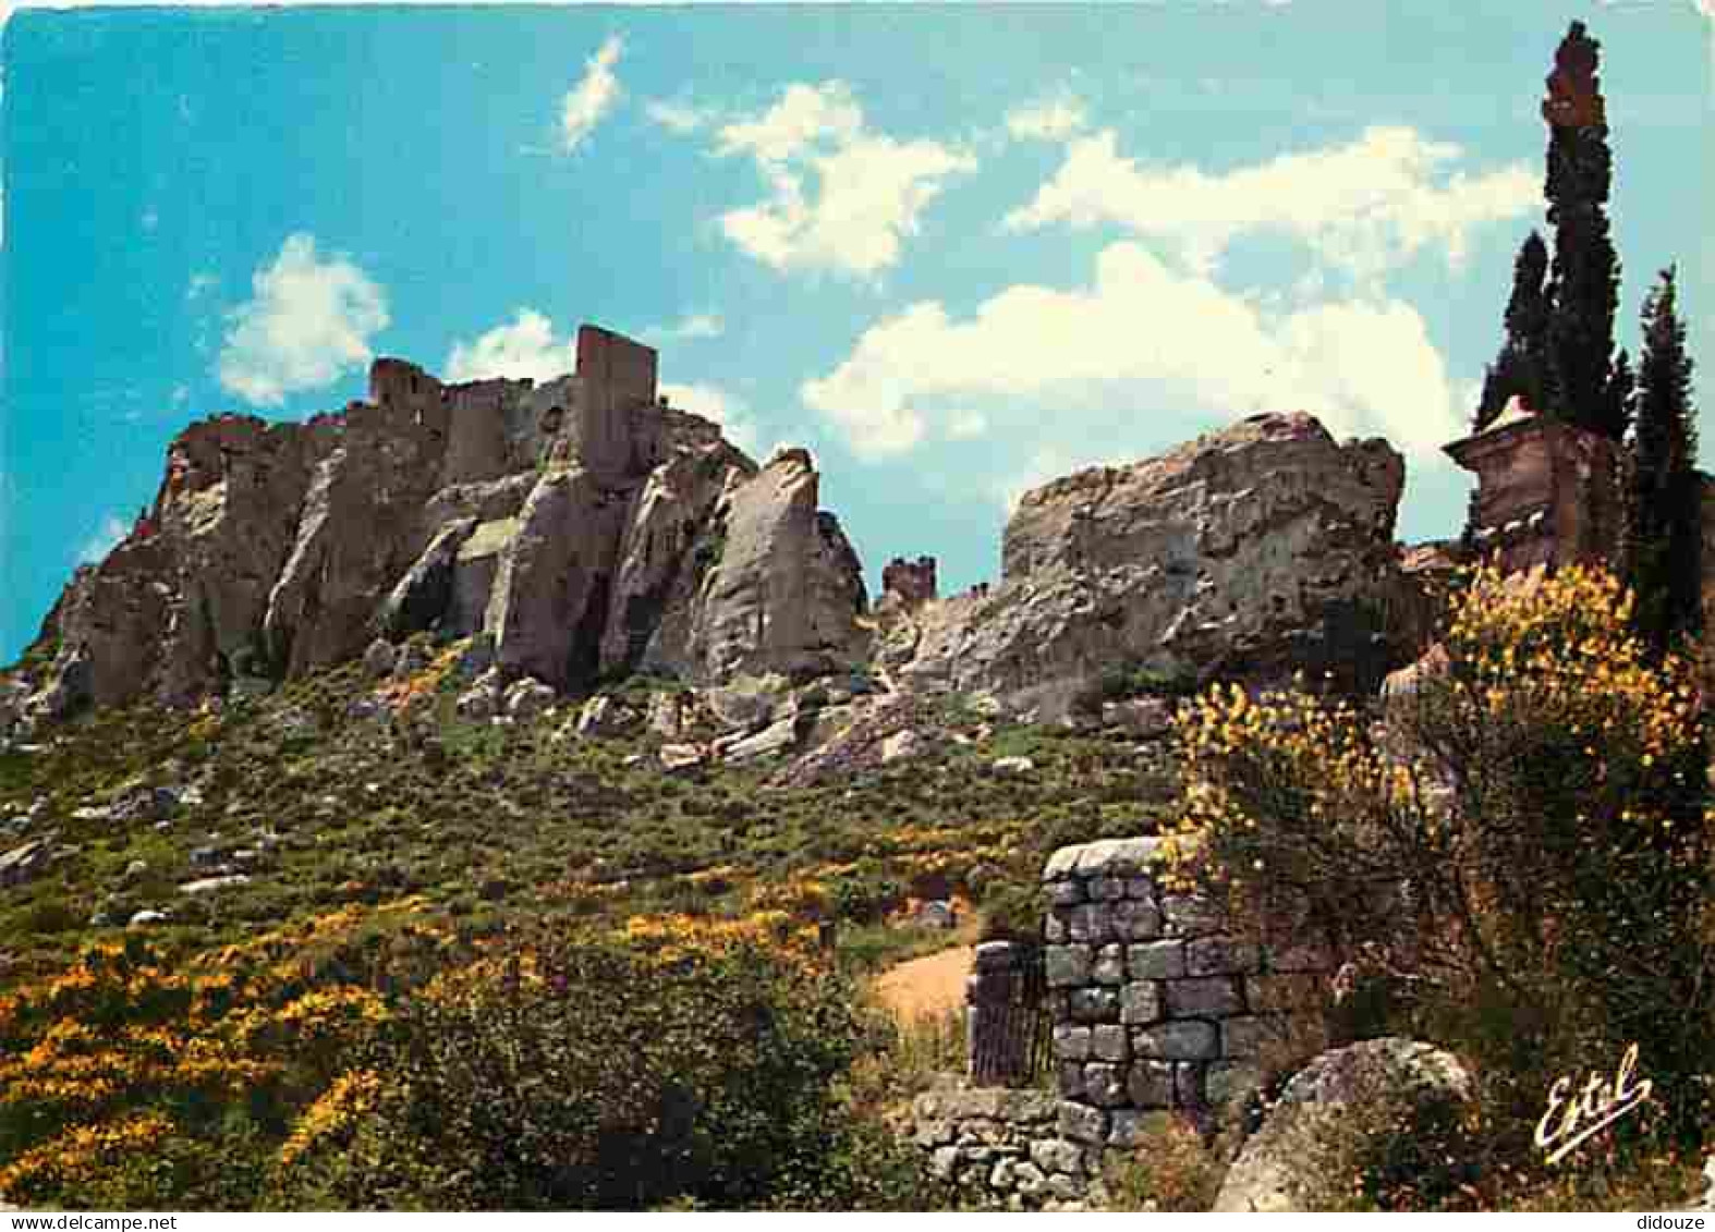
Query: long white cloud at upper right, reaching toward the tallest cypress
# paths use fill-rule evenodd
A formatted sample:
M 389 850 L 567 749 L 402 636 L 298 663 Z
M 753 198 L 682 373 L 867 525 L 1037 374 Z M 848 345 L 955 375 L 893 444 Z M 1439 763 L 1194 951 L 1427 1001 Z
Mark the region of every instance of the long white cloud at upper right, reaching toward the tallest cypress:
M 1463 259 L 1471 228 L 1542 207 L 1542 176 L 1514 163 L 1454 170 L 1463 151 L 1413 129 L 1372 127 L 1345 146 L 1207 173 L 1123 158 L 1113 130 L 1072 142 L 1060 171 L 1005 226 L 1116 223 L 1209 271 L 1238 235 L 1278 231 L 1334 269 L 1370 279 L 1439 245 Z

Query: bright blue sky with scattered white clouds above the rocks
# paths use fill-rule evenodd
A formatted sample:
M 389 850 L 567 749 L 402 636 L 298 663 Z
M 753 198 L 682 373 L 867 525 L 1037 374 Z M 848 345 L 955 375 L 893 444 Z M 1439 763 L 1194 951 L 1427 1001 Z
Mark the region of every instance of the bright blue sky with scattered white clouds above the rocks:
M 19 12 L 0 660 L 185 423 L 343 406 L 376 355 L 554 375 L 580 320 L 809 446 L 871 583 L 991 579 L 1019 490 L 1259 410 L 1389 437 L 1401 538 L 1451 536 L 1569 17 L 1622 341 L 1677 260 L 1715 363 L 1689 0 Z

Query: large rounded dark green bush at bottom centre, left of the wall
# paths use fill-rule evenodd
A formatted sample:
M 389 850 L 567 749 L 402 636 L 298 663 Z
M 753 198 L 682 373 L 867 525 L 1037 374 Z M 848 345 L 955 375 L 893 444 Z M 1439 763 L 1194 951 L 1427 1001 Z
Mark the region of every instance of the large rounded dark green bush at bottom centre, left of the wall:
M 386 1085 L 305 1169 L 307 1193 L 454 1210 L 885 1198 L 890 1172 L 866 1169 L 892 1148 L 835 1090 L 873 1042 L 852 989 L 698 929 L 629 946 L 539 932 L 412 999 L 358 1062 Z

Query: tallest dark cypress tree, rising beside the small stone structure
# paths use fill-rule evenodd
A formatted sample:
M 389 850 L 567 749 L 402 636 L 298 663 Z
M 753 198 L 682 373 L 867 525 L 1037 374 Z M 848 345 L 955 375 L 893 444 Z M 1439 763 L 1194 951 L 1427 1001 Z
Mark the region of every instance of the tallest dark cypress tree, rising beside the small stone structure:
M 1616 406 L 1614 314 L 1619 308 L 1619 255 L 1609 235 L 1612 187 L 1600 48 L 1574 21 L 1554 53 L 1549 98 L 1545 195 L 1554 228 L 1549 279 L 1547 375 L 1552 413 L 1614 440 L 1626 434 Z

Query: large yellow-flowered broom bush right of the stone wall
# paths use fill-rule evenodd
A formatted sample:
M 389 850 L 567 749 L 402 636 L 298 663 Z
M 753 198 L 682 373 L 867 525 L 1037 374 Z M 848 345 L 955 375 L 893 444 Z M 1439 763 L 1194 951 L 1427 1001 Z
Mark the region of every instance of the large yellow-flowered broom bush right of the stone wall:
M 1652 663 L 1629 615 L 1600 571 L 1478 571 L 1444 672 L 1382 740 L 1345 703 L 1209 691 L 1176 727 L 1197 838 L 1170 845 L 1170 879 L 1264 941 L 1367 954 L 1394 994 L 1374 1030 L 1471 1056 L 1497 1124 L 1533 1124 L 1554 1076 L 1638 1042 L 1662 1131 L 1694 1136 L 1715 1033 L 1705 713 L 1693 667 Z

